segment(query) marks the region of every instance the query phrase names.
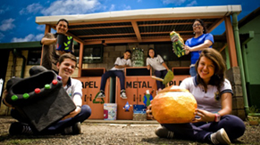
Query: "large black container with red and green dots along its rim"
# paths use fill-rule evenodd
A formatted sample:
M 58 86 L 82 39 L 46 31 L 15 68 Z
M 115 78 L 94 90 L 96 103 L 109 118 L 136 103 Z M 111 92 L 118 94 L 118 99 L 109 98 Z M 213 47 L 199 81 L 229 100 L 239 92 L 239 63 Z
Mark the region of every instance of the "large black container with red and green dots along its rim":
M 52 70 L 15 82 L 8 89 L 5 101 L 29 120 L 29 125 L 38 132 L 76 109 L 74 102 L 63 89 L 62 81 L 57 79 Z

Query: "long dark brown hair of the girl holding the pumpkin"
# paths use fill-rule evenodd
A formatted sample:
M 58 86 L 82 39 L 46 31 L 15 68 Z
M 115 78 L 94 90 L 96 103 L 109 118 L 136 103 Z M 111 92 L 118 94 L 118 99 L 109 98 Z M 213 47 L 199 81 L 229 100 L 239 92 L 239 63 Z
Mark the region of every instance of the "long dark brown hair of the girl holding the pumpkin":
M 224 76 L 226 71 L 225 60 L 223 60 L 222 54 L 220 52 L 217 52 L 213 48 L 205 48 L 200 53 L 199 59 L 195 64 L 196 72 L 197 72 L 198 63 L 201 57 L 203 56 L 205 56 L 209 60 L 212 60 L 214 63 L 214 75 L 210 78 L 209 84 L 217 86 L 217 89 L 220 92 L 220 89 L 225 80 L 225 76 Z M 207 85 L 205 85 L 203 79 L 199 77 L 198 73 L 197 73 L 197 82 L 198 84 L 203 85 L 205 90 L 207 90 L 206 87 Z

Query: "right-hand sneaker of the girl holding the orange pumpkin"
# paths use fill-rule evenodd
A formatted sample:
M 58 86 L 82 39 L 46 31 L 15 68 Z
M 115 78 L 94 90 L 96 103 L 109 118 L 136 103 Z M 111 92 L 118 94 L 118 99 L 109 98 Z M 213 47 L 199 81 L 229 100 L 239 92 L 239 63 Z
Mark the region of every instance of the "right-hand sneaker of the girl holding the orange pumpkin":
M 230 138 L 223 128 L 212 133 L 210 139 L 214 144 L 231 144 Z

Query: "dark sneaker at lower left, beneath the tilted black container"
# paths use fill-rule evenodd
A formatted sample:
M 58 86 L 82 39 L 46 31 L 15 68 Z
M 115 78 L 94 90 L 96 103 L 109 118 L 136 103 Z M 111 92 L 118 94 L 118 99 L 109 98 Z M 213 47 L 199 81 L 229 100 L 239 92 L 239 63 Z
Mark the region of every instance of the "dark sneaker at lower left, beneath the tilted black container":
M 10 125 L 9 134 L 10 135 L 21 135 L 21 134 L 31 135 L 33 134 L 33 132 L 29 127 L 29 125 L 15 122 Z

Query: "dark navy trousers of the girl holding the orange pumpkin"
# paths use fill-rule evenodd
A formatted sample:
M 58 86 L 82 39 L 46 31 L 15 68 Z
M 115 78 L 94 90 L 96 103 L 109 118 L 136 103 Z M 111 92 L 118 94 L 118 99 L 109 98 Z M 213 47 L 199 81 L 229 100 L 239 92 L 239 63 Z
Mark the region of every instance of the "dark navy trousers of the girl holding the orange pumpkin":
M 211 133 L 215 133 L 221 128 L 224 128 L 231 141 L 239 138 L 245 132 L 244 122 L 236 116 L 223 116 L 219 122 L 196 124 L 163 124 L 169 131 L 174 133 L 174 136 L 205 142 L 205 137 Z

